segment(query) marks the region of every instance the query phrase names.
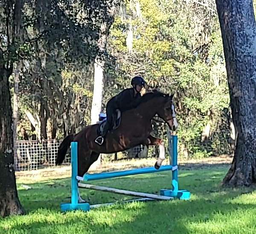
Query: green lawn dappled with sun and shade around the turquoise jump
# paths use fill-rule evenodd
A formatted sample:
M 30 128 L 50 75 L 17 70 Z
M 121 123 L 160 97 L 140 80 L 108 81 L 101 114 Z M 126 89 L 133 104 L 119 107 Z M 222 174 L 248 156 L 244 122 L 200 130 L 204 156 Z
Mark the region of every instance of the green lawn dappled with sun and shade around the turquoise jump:
M 211 166 L 180 170 L 180 188 L 192 193 L 189 201 L 133 202 L 90 212 L 60 212 L 59 204 L 70 201 L 69 178 L 38 183 L 18 179 L 19 197 L 26 215 L 0 219 L 0 234 L 254 234 L 255 188 L 221 188 L 227 169 L 227 166 Z M 170 187 L 170 173 L 129 176 L 92 184 L 159 193 L 161 188 Z M 131 199 L 92 190 L 81 194 L 90 204 Z

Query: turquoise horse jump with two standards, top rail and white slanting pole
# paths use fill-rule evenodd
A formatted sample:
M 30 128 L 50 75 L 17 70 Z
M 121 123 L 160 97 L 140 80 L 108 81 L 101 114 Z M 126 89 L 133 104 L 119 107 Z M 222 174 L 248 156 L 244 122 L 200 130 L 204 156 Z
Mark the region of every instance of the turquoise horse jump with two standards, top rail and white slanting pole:
M 171 156 L 172 156 L 172 165 L 161 166 L 158 170 L 154 167 L 150 168 L 141 168 L 141 169 L 134 169 L 134 170 L 124 170 L 124 171 L 115 171 L 115 172 L 105 172 L 105 173 L 95 173 L 89 174 L 86 173 L 83 177 L 77 176 L 78 173 L 78 164 L 77 164 L 77 142 L 71 143 L 71 167 L 72 167 L 72 178 L 71 178 L 71 203 L 61 203 L 61 211 L 70 211 L 70 210 L 83 210 L 89 211 L 90 204 L 89 203 L 79 203 L 78 200 L 78 188 L 90 188 L 100 191 L 106 192 L 114 192 L 119 194 L 126 194 L 130 196 L 140 196 L 145 197 L 148 200 L 152 199 L 172 199 L 172 198 L 179 198 L 183 200 L 188 200 L 190 198 L 190 192 L 187 190 L 179 190 L 178 187 L 178 172 L 177 172 L 177 136 L 172 136 L 169 139 L 169 145 L 171 145 Z M 98 180 L 98 179 L 107 179 L 113 177 L 120 177 L 120 176 L 129 176 L 129 175 L 137 175 L 137 174 L 144 174 L 144 173 L 154 173 L 154 172 L 161 172 L 165 170 L 172 170 L 172 190 L 168 189 L 161 189 L 160 195 L 156 194 L 145 194 L 140 192 L 133 192 L 127 190 L 120 190 L 116 188 L 108 188 L 96 185 L 88 185 L 79 183 L 78 181 L 90 181 L 90 180 Z M 143 196 L 143 194 L 145 196 Z M 154 198 L 153 198 L 154 197 Z M 145 200 L 146 200 L 145 199 Z M 169 200 L 168 199 L 168 200 Z M 112 203 L 109 203 L 112 204 Z M 114 203 L 113 203 L 114 204 Z M 104 204 L 99 204 L 102 206 Z M 97 205 L 92 205 L 91 208 L 97 207 Z

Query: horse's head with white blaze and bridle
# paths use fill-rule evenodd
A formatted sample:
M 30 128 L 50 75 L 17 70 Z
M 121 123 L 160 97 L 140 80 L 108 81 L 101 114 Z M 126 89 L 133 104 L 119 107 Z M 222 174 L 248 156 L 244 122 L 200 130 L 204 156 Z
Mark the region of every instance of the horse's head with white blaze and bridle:
M 168 123 L 171 130 L 175 131 L 178 127 L 178 122 L 176 119 L 175 106 L 172 98 L 173 94 L 170 96 L 166 95 L 166 100 L 164 102 L 163 108 L 159 108 L 159 110 L 157 111 L 157 115 L 160 118 L 163 118 L 166 123 Z

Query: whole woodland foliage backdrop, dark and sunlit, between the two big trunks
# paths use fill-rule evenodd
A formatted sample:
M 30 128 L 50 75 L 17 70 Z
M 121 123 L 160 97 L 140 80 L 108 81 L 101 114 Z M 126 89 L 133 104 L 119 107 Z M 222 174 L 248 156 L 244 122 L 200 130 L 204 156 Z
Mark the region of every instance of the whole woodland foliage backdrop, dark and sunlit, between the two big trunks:
M 112 24 L 111 10 L 113 4 L 119 9 L 119 1 L 61 3 L 24 2 L 24 38 L 16 38 L 15 49 L 10 46 L 6 52 L 24 62 L 21 110 L 37 115 L 38 106 L 43 106 L 44 117 L 52 118 L 59 136 L 88 125 L 93 60 L 98 55 L 106 60 L 103 108 L 113 95 L 130 87 L 132 76 L 141 74 L 150 87 L 175 93 L 181 152 L 196 157 L 231 153 L 230 113 L 225 114 L 229 93 L 214 0 L 208 1 L 209 8 L 193 1 L 140 0 L 140 11 L 137 1 L 122 3 L 104 54 L 97 40 L 101 26 Z M 5 14 L 1 17 L 5 22 Z M 3 23 L 1 27 L 6 29 Z M 129 29 L 132 51 L 127 46 Z M 20 116 L 20 125 L 29 126 Z M 155 135 L 166 139 L 163 126 L 154 125 Z M 204 137 L 207 125 L 209 136 Z

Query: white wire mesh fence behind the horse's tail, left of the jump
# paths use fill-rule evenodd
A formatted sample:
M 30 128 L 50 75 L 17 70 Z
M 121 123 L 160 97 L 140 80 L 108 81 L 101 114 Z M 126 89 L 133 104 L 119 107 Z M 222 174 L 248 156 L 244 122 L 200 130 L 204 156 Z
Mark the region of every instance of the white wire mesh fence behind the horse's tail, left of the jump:
M 58 146 L 62 139 L 39 141 L 17 141 L 16 170 L 37 170 L 55 166 Z M 70 153 L 66 155 L 64 165 L 70 165 Z

